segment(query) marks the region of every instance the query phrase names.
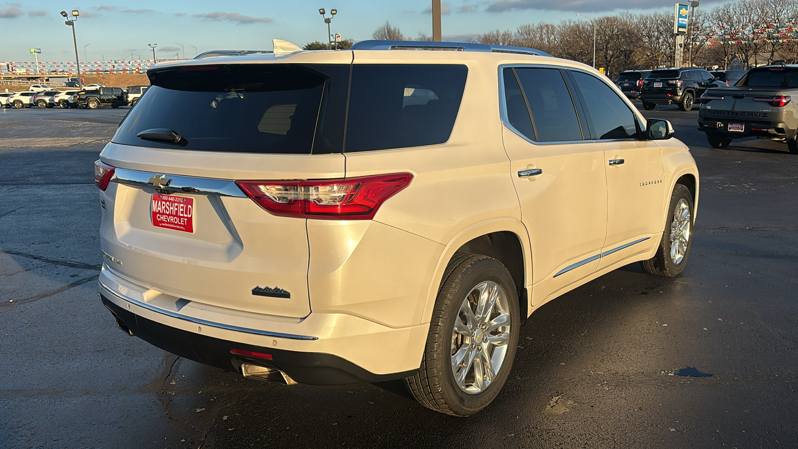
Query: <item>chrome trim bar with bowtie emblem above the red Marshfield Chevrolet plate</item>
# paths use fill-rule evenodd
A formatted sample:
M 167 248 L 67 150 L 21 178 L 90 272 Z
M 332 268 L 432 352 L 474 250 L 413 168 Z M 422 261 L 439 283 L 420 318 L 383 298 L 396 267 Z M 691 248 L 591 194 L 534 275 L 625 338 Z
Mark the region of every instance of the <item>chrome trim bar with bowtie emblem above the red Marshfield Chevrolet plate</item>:
M 111 182 L 136 187 L 155 189 L 149 184 L 149 179 L 156 175 L 164 175 L 165 179 L 172 179 L 169 185 L 159 188 L 160 192 L 168 193 L 194 193 L 196 195 L 215 195 L 219 197 L 246 198 L 247 195 L 235 185 L 235 181 L 228 179 L 213 179 L 209 177 L 187 177 L 170 175 L 166 173 L 142 172 L 139 170 L 115 169 Z

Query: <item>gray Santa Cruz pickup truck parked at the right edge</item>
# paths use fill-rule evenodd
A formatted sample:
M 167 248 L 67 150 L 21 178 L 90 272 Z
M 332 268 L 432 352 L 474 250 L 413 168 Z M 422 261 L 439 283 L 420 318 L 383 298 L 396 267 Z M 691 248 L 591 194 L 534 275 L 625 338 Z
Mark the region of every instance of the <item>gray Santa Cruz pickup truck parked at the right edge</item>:
M 751 69 L 733 87 L 707 89 L 700 100 L 698 129 L 709 145 L 723 148 L 733 139 L 760 137 L 782 141 L 798 154 L 798 66 Z

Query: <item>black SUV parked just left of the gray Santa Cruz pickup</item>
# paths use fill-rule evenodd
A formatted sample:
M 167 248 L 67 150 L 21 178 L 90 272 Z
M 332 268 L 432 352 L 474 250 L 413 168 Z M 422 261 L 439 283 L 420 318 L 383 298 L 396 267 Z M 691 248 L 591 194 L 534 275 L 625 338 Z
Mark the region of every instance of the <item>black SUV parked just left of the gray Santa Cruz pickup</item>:
M 710 87 L 725 87 L 724 81 L 699 67 L 681 69 L 652 70 L 643 81 L 640 100 L 646 110 L 656 105 L 679 105 L 679 109 L 689 111 L 697 97 L 701 97 Z

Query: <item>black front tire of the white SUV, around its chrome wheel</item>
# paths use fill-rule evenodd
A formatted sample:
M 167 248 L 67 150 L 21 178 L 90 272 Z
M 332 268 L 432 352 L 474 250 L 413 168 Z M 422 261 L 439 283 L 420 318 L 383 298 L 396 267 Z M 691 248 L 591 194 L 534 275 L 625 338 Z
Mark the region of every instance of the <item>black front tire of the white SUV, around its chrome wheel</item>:
M 689 225 L 686 236 L 686 244 L 683 251 L 681 251 L 681 260 L 674 260 L 671 255 L 671 236 L 677 235 L 674 232 L 674 223 L 677 221 L 676 213 L 681 209 L 682 201 L 687 206 L 689 217 L 686 217 L 686 222 Z M 649 260 L 642 261 L 642 267 L 647 273 L 656 276 L 674 277 L 678 276 L 687 265 L 687 259 L 690 255 L 690 247 L 693 245 L 693 215 L 695 209 L 693 208 L 693 195 L 689 189 L 684 185 L 677 184 L 674 186 L 674 193 L 670 195 L 670 207 L 668 207 L 668 215 L 666 217 L 665 230 L 662 232 L 662 240 L 659 242 L 657 253 Z M 684 235 L 682 234 L 682 237 Z

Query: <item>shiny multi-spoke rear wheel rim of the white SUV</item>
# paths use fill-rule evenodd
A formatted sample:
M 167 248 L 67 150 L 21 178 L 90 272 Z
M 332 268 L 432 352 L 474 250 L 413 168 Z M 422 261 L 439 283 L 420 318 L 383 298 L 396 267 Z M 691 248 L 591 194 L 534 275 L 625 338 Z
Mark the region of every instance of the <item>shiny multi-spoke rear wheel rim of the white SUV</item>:
M 510 304 L 499 284 L 476 284 L 465 296 L 452 330 L 452 374 L 457 385 L 476 395 L 490 386 L 507 355 Z

